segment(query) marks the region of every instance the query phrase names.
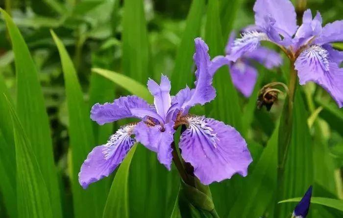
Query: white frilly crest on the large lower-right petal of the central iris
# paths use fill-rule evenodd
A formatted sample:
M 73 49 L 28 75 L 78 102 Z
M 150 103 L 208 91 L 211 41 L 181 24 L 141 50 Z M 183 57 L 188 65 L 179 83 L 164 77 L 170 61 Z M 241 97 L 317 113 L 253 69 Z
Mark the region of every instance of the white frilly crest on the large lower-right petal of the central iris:
M 188 116 L 187 121 L 192 131 L 196 131 L 200 127 L 203 133 L 206 134 L 212 145 L 217 148 L 216 140 L 219 139 L 217 138 L 217 134 L 213 133 L 213 129 L 207 125 L 207 119 L 205 116 Z

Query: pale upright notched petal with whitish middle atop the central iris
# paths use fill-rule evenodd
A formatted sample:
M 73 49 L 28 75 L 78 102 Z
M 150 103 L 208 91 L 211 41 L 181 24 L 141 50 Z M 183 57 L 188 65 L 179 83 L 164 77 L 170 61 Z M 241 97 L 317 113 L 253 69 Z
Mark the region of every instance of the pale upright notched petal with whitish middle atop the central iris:
M 149 79 L 147 82 L 147 88 L 150 93 L 154 96 L 154 105 L 157 113 L 166 119 L 168 109 L 171 107 L 171 82 L 168 77 L 161 75 L 161 82 L 158 85 L 155 81 Z

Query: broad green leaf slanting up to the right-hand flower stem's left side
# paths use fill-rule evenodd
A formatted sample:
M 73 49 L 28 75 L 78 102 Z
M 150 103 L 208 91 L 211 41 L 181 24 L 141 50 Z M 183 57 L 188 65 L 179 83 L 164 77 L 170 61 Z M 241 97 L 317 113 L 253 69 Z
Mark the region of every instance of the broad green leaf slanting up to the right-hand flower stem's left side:
M 275 128 L 252 173 L 244 181 L 244 189 L 230 210 L 231 217 L 262 217 L 276 189 L 277 136 Z

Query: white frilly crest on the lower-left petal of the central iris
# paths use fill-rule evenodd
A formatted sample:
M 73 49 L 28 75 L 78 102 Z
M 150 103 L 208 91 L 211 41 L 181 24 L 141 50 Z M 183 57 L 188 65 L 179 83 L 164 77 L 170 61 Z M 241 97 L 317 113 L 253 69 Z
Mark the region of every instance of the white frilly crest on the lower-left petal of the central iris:
M 122 126 L 120 129 L 117 130 L 115 134 L 110 136 L 109 140 L 104 145 L 105 147 L 102 150 L 102 153 L 105 155 L 106 160 L 112 157 L 118 145 L 125 140 L 128 140 L 129 144 L 133 144 L 135 142 L 135 139 L 130 137 L 135 126 L 136 124 L 127 124 L 125 126 Z

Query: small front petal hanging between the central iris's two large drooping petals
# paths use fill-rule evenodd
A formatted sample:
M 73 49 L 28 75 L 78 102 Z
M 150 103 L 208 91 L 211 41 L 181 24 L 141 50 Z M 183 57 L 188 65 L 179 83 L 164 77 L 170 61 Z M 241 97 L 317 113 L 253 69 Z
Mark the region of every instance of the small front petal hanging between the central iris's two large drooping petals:
M 171 170 L 172 164 L 172 147 L 174 141 L 173 129 L 174 122 L 164 125 L 162 128 L 159 125 L 150 127 L 144 122 L 139 122 L 134 130 L 136 140 L 141 142 L 149 150 L 157 153 L 157 159 L 161 164 L 164 164 L 168 170 Z

